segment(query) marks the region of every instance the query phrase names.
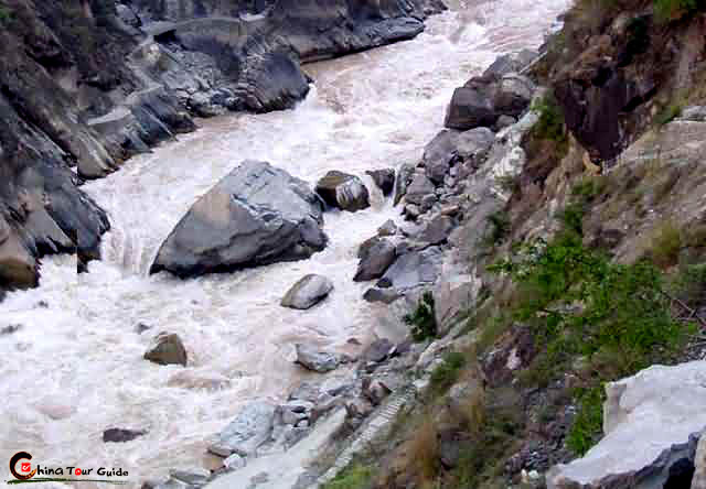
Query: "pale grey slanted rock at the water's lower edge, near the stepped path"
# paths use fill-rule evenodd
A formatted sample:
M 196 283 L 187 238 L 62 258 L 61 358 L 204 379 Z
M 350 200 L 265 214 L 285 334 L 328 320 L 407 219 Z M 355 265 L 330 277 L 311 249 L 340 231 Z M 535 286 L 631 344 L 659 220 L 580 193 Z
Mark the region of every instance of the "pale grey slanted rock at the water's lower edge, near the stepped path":
M 238 454 L 248 457 L 269 438 L 275 420 L 272 404 L 256 401 L 246 404 L 218 435 L 208 452 L 222 457 Z

